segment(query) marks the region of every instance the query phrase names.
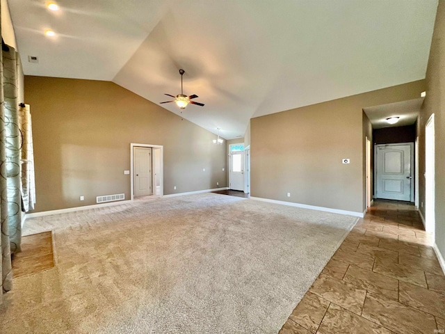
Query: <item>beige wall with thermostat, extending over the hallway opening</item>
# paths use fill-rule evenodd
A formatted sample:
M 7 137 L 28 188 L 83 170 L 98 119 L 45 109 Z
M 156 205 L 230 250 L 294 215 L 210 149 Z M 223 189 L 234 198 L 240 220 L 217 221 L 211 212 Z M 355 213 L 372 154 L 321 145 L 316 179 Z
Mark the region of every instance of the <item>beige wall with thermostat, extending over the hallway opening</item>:
M 424 88 L 414 81 L 252 118 L 251 195 L 363 212 L 362 109 L 414 99 Z M 343 158 L 350 164 L 341 164 Z

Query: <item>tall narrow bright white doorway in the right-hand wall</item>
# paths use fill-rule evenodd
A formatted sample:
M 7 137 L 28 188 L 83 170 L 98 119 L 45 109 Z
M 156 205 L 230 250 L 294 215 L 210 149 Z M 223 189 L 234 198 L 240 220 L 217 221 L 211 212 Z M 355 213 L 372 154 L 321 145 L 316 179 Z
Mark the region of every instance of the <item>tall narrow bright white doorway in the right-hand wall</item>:
M 425 230 L 435 232 L 435 120 L 434 113 L 425 127 Z

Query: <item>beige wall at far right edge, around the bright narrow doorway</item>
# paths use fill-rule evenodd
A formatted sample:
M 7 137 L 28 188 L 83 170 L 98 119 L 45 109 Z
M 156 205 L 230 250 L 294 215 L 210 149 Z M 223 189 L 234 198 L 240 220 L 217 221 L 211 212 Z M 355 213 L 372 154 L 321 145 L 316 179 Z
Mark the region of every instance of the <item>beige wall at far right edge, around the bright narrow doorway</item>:
M 435 114 L 435 242 L 445 256 L 445 1 L 440 0 L 426 71 L 426 98 L 419 122 L 419 175 L 425 173 L 425 126 Z M 419 180 L 419 205 L 425 216 L 425 178 Z

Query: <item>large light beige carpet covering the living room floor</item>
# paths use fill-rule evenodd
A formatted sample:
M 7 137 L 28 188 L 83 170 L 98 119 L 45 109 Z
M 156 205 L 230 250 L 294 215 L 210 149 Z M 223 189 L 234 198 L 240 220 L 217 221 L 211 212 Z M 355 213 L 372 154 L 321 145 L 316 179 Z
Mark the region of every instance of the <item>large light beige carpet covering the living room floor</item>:
M 204 193 L 30 218 L 1 333 L 277 333 L 357 218 Z

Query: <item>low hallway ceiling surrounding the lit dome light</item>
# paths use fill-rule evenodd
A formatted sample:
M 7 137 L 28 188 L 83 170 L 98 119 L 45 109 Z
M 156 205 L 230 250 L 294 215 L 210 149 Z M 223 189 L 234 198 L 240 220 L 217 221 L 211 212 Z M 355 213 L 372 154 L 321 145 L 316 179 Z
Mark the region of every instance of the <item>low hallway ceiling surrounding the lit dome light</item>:
M 420 114 L 423 104 L 423 97 L 418 99 L 383 104 L 381 106 L 371 106 L 364 108 L 363 111 L 368 116 L 373 129 L 381 129 L 382 127 L 403 127 L 413 125 Z M 389 124 L 386 119 L 389 117 L 399 117 L 396 124 Z

